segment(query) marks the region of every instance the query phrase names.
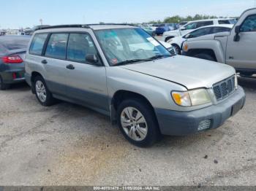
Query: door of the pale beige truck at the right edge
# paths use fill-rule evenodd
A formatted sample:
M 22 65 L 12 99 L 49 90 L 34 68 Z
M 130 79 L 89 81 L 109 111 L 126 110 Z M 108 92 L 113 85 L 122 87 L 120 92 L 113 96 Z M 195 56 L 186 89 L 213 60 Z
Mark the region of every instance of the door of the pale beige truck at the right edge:
M 227 39 L 226 63 L 236 69 L 255 69 L 256 15 L 249 15 L 244 21 L 238 22 L 241 25 L 240 39 L 238 42 L 234 41 L 236 33 L 232 30 Z

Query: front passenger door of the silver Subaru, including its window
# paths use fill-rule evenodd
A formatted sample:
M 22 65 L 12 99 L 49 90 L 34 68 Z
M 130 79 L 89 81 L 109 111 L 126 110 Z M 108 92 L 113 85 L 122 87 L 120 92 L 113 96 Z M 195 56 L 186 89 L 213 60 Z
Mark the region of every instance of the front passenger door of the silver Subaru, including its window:
M 109 111 L 105 66 L 86 61 L 99 54 L 88 33 L 71 33 L 67 45 L 67 96 L 79 104 Z

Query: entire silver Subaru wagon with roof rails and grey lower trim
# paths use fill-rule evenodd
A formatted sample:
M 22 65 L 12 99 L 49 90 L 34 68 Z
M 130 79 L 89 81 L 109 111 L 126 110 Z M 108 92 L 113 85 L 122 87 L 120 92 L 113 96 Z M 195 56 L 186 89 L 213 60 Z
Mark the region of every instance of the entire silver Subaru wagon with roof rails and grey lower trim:
M 54 98 L 110 116 L 138 147 L 161 135 L 219 128 L 245 102 L 231 66 L 171 55 L 135 26 L 54 26 L 36 31 L 26 81 L 40 104 Z

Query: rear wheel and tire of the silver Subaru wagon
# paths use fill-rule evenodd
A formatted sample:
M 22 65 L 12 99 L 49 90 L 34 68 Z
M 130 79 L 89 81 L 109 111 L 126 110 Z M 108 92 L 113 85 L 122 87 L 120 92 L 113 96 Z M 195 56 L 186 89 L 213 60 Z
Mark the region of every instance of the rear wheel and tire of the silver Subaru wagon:
M 48 87 L 45 84 L 45 80 L 41 76 L 35 77 L 33 86 L 37 100 L 42 106 L 51 106 L 54 104 L 55 100 L 53 95 L 48 90 Z

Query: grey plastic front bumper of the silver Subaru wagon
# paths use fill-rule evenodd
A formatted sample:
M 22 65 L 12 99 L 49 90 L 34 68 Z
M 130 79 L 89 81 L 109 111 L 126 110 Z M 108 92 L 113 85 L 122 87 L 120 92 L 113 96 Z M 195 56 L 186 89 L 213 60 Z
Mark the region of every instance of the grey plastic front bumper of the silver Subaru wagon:
M 243 88 L 238 87 L 233 95 L 217 105 L 192 112 L 176 112 L 167 109 L 155 109 L 155 112 L 163 135 L 186 136 L 200 132 L 198 127 L 203 120 L 211 120 L 211 125 L 206 130 L 219 128 L 228 118 L 243 108 L 245 100 Z

